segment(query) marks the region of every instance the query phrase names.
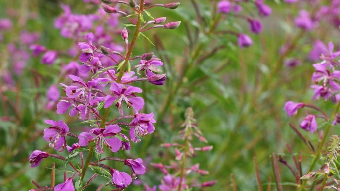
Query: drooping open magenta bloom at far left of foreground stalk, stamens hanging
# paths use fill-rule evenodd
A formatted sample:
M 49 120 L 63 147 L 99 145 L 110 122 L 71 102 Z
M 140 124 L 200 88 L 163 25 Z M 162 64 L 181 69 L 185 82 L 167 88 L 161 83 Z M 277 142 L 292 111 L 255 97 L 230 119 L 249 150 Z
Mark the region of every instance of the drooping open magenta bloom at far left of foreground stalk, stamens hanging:
M 65 136 L 69 132 L 69 127 L 61 120 L 58 122 L 45 120 L 45 123 L 52 127 L 48 127 L 44 130 L 44 139 L 48 142 L 51 141 L 49 144 L 50 147 L 55 148 L 56 150 L 61 148 L 59 151 L 63 151 L 66 147 Z

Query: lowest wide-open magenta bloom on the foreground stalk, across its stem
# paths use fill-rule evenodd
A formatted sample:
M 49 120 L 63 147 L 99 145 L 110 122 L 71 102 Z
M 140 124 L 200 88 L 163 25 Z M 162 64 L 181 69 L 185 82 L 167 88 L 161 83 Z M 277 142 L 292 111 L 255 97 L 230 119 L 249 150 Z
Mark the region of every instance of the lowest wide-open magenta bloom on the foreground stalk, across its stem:
M 121 130 L 118 125 L 109 125 L 106 128 L 93 128 L 89 132 L 79 134 L 79 145 L 87 146 L 89 142 L 96 140 L 95 149 L 97 153 L 104 152 L 104 145 L 109 147 L 112 152 L 117 152 L 122 147 L 122 141 L 114 136 Z

